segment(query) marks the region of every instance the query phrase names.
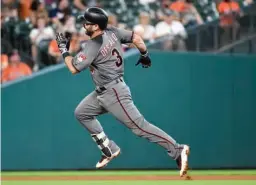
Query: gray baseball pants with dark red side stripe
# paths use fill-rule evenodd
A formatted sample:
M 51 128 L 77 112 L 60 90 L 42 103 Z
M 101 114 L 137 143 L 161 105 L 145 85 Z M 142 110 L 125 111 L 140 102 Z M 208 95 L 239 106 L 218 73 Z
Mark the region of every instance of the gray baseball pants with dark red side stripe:
M 100 122 L 96 119 L 97 116 L 104 113 L 111 113 L 137 136 L 146 138 L 165 148 L 168 155 L 174 160 L 180 156 L 183 145 L 178 144 L 163 130 L 145 120 L 134 105 L 130 89 L 122 78 L 111 82 L 103 92 L 91 92 L 75 109 L 75 117 L 92 137 L 102 136 L 104 133 Z M 99 145 L 99 143 L 97 144 Z M 112 154 L 119 150 L 117 144 L 111 139 L 109 139 L 107 146 Z M 102 147 L 99 148 L 102 149 Z

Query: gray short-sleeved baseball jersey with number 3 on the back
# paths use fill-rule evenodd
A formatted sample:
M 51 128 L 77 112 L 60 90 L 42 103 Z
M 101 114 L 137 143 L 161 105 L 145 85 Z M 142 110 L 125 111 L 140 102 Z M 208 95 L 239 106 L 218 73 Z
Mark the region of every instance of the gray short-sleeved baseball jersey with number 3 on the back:
M 131 43 L 132 31 L 109 27 L 87 41 L 73 60 L 78 71 L 90 68 L 96 86 L 103 86 L 124 75 L 122 44 Z

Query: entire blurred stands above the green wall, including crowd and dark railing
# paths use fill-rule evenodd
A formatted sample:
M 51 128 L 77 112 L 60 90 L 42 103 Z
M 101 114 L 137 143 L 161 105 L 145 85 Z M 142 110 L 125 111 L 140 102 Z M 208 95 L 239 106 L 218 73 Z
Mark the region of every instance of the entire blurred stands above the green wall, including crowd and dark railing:
M 20 67 L 23 75 L 30 75 L 62 63 L 55 33 L 72 34 L 71 52 L 76 53 L 88 39 L 77 16 L 89 6 L 105 8 L 109 24 L 136 31 L 151 49 L 255 53 L 254 1 L 225 3 L 221 0 L 3 0 L 2 66 L 19 60 L 26 64 Z M 124 46 L 125 51 L 129 49 Z M 2 82 L 16 78 L 8 75 L 9 70 L 5 71 Z

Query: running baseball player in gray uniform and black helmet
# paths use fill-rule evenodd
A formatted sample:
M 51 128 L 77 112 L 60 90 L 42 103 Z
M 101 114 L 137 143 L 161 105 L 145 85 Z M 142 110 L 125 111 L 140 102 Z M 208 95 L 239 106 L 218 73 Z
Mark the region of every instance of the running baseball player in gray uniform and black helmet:
M 140 51 L 136 65 L 141 64 L 144 68 L 151 66 L 142 38 L 132 31 L 108 27 L 108 15 L 101 8 L 88 8 L 79 18 L 83 21 L 83 27 L 90 40 L 75 57 L 69 54 L 69 38 L 65 38 L 63 33 L 57 33 L 56 40 L 70 72 L 76 74 L 89 68 L 95 83 L 95 90 L 75 109 L 75 117 L 89 131 L 101 150 L 102 158 L 96 168 L 103 168 L 120 154 L 119 146 L 104 133 L 96 119 L 97 116 L 109 112 L 137 136 L 165 148 L 167 154 L 176 160 L 180 176 L 187 174 L 189 146 L 178 144 L 143 117 L 134 105 L 130 89 L 123 79 L 122 44 L 134 44 Z

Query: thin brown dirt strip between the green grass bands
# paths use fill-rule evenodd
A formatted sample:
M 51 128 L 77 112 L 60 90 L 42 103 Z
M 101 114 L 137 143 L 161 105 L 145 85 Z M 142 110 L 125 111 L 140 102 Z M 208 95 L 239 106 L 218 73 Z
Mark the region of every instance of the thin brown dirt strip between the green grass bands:
M 167 175 L 118 176 L 3 176 L 2 181 L 171 181 L 171 180 L 256 180 L 256 175 L 194 175 L 191 178 Z

